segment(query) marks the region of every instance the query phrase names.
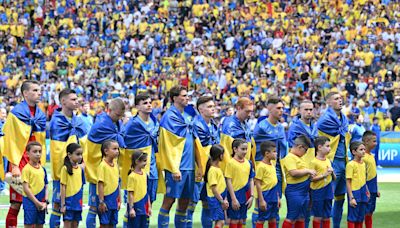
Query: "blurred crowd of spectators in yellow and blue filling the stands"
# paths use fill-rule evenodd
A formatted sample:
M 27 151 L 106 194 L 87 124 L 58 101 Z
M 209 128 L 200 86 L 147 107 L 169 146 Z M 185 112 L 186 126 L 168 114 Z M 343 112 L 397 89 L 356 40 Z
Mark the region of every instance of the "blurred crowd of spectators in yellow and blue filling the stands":
M 152 94 L 155 114 L 168 90 L 189 87 L 192 104 L 210 94 L 219 118 L 240 96 L 254 100 L 249 124 L 285 102 L 282 123 L 310 99 L 339 91 L 351 122 L 400 130 L 400 4 L 394 0 L 0 0 L 0 108 L 20 100 L 24 79 L 41 82 L 48 118 L 58 92 L 75 89 L 90 119 L 110 98 L 135 114 Z M 2 111 L 3 112 L 3 111 Z M 3 114 L 2 114 L 3 115 Z M 6 115 L 6 114 L 4 114 Z

